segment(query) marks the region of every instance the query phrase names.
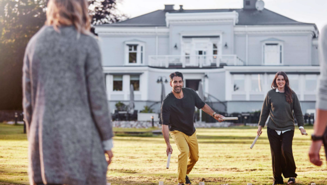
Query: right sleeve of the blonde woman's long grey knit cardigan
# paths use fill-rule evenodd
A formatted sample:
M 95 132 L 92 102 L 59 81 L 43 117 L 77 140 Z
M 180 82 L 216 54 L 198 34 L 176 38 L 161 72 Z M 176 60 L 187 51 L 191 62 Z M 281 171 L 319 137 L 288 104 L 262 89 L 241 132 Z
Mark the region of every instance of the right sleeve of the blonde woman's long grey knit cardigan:
M 113 137 L 111 115 L 105 91 L 102 59 L 98 42 L 91 38 L 85 64 L 89 106 L 102 141 Z

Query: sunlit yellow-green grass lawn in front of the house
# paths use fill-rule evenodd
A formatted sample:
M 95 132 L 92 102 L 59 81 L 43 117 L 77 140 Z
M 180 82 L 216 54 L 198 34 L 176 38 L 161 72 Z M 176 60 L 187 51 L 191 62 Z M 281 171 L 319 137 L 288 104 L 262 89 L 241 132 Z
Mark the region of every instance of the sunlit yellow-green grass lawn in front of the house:
M 308 126 L 305 129 L 308 136 L 302 136 L 296 129 L 293 139 L 297 184 L 309 185 L 314 182 L 316 185 L 327 185 L 324 150 L 321 150 L 323 167 L 311 165 L 307 151 L 309 135 L 313 130 Z M 0 124 L 0 185 L 28 184 L 28 142 L 22 130 L 22 126 Z M 266 128 L 254 148 L 250 149 L 256 130 L 250 127 L 197 129 L 200 159 L 189 175 L 192 183 L 271 185 L 273 178 Z M 170 142 L 173 154 L 170 168 L 166 169 L 163 136 L 115 136 L 115 157 L 107 173 L 108 182 L 111 185 L 158 185 L 159 181 L 164 181 L 164 185 L 176 185 L 178 149 L 172 139 Z

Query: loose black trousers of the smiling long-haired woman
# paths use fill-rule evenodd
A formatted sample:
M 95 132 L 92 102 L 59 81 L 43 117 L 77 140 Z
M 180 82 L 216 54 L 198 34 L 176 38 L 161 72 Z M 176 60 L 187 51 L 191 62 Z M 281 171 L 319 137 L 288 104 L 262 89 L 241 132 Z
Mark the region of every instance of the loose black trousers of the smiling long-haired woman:
M 272 173 L 277 183 L 283 183 L 283 177 L 296 177 L 296 166 L 292 151 L 294 130 L 278 135 L 276 130 L 267 128 L 272 158 Z

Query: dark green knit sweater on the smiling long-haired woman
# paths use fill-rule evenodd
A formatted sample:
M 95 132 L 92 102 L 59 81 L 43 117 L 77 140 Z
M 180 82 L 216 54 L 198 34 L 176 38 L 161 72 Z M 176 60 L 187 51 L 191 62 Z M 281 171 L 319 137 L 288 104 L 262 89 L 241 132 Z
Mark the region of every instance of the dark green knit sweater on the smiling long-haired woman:
M 294 130 L 294 115 L 298 122 L 298 127 L 304 126 L 303 114 L 301 111 L 301 106 L 299 99 L 294 92 L 292 94 L 293 102 L 289 104 L 286 101 L 286 96 L 284 92 L 276 92 L 272 89 L 267 92 L 264 105 L 262 106 L 259 125 L 265 127 L 266 120 L 270 115 L 268 120 L 268 125 L 270 129 L 274 130 Z

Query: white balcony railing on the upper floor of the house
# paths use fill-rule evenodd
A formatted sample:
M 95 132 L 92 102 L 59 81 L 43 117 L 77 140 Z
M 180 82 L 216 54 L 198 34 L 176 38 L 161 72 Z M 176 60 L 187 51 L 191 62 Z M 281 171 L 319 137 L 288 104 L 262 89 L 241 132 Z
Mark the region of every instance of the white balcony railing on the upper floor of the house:
M 165 67 L 169 66 L 182 66 L 185 67 L 207 67 L 222 65 L 228 66 L 242 66 L 245 62 L 242 61 L 237 55 L 162 55 L 162 56 L 149 56 L 149 66 Z

